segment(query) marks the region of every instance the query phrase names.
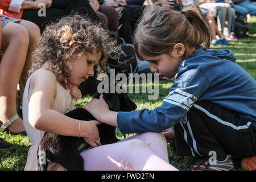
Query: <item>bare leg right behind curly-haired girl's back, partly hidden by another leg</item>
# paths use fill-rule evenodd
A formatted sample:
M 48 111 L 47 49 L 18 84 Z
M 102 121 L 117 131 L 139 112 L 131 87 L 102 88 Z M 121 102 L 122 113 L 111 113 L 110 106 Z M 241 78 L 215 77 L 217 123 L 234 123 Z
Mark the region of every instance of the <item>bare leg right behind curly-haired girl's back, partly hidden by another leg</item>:
M 26 61 L 23 67 L 22 74 L 20 76 L 20 80 L 19 80 L 19 88 L 20 88 L 19 92 L 21 97 L 20 101 L 22 102 L 23 92 L 24 92 L 24 88 L 26 86 L 26 82 L 28 78 L 28 71 L 30 70 L 32 65 L 32 53 L 35 52 L 38 39 L 40 38 L 40 29 L 35 23 L 29 22 L 27 20 L 21 20 L 18 23 L 27 29 L 28 35 L 30 38 L 30 42 L 28 44 L 28 49 L 27 49 Z

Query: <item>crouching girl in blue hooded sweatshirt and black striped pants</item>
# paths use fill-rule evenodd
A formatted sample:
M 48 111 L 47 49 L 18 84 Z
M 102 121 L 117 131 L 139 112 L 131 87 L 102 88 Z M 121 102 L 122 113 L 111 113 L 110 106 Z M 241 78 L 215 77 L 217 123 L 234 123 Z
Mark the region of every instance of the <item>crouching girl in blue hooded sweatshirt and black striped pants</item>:
M 201 157 L 189 170 L 232 170 L 232 156 L 255 160 L 256 82 L 229 49 L 208 49 L 210 31 L 199 10 L 147 7 L 134 44 L 151 72 L 175 77 L 163 104 L 116 113 L 100 97 L 84 109 L 123 134 L 164 130 L 167 141 L 175 135 L 177 155 Z

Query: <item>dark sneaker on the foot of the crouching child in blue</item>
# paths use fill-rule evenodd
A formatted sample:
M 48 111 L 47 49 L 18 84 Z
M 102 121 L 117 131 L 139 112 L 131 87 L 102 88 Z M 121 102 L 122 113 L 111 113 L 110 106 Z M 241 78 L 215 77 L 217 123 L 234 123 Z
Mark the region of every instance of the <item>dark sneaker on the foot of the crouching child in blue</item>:
M 184 171 L 233 171 L 233 162 L 231 155 L 226 156 L 223 161 L 216 161 L 216 164 L 210 164 L 208 159 L 200 159 L 191 167 L 184 169 Z

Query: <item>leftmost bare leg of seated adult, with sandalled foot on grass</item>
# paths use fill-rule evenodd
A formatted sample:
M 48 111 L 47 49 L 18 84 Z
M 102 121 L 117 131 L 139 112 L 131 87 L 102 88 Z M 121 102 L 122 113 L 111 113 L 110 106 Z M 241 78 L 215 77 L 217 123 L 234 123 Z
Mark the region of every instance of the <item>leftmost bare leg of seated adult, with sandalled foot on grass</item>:
M 26 60 L 28 31 L 18 23 L 7 23 L 2 29 L 1 46 L 5 48 L 0 64 L 0 121 L 5 123 L 16 112 L 16 88 Z M 25 131 L 22 119 L 10 126 L 11 133 Z

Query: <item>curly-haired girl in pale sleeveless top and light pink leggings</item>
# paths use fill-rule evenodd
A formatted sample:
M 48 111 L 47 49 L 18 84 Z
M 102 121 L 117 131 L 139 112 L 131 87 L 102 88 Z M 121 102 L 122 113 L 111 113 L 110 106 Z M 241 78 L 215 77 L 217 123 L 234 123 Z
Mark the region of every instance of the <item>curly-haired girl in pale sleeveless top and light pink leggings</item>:
M 115 52 L 114 45 L 103 28 L 79 15 L 67 16 L 46 28 L 24 91 L 24 126 L 32 144 L 25 170 L 38 169 L 37 151 L 44 131 L 81 136 L 94 147 L 80 154 L 86 161 L 85 170 L 176 169 L 168 163 L 166 140 L 160 134 L 144 133 L 101 146 L 100 122 L 79 122 L 64 115 L 75 109 L 69 85 L 76 87 L 93 76 L 96 64 L 104 69 L 108 55 Z M 60 164 L 48 163 L 48 170 L 61 169 Z

